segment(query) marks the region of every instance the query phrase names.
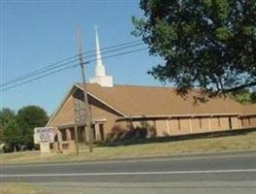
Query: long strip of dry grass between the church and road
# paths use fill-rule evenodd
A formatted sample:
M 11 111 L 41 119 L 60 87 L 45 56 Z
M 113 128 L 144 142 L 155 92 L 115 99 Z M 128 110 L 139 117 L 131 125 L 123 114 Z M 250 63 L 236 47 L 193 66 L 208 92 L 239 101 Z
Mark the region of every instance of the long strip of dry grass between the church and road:
M 256 150 L 256 132 L 244 135 L 186 140 L 179 142 L 151 143 L 134 146 L 96 147 L 89 153 L 85 146 L 79 155 L 40 154 L 38 151 L 0 154 L 0 164 L 24 164 L 43 162 L 73 162 L 121 158 L 168 156 L 179 153 L 219 152 L 228 150 Z

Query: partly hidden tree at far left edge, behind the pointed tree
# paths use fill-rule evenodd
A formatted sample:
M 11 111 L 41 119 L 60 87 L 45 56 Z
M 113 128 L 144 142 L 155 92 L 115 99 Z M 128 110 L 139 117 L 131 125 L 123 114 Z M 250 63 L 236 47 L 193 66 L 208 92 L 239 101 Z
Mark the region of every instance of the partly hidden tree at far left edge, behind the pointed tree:
M 0 143 L 4 142 L 4 128 L 6 124 L 15 117 L 15 112 L 8 108 L 0 111 Z

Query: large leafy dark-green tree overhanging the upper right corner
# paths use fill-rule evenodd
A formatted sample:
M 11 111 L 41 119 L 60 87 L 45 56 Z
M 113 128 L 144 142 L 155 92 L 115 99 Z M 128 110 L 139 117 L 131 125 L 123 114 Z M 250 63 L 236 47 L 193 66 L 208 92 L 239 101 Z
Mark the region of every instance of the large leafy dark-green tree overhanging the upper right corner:
M 149 71 L 154 78 L 208 96 L 256 85 L 256 0 L 140 0 L 140 8 L 133 34 L 165 61 Z

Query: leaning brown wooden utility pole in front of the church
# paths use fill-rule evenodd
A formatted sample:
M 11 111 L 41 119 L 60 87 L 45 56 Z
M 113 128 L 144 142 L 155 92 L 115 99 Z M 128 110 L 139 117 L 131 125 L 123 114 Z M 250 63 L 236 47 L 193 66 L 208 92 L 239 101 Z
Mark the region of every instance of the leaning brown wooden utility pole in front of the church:
M 84 87 L 84 101 L 85 101 L 85 111 L 86 111 L 86 134 L 89 140 L 89 150 L 90 152 L 93 151 L 93 145 L 92 145 L 92 118 L 91 118 L 91 110 L 89 108 L 89 101 L 88 101 L 88 93 L 87 93 L 87 81 L 86 81 L 86 74 L 85 74 L 85 65 L 87 64 L 83 60 L 83 48 L 82 48 L 82 35 L 81 30 L 77 28 L 76 30 L 76 36 L 77 36 L 77 43 L 78 43 L 78 57 L 79 57 L 79 63 L 81 67 L 81 73 L 82 73 L 82 81 L 83 81 L 83 87 Z

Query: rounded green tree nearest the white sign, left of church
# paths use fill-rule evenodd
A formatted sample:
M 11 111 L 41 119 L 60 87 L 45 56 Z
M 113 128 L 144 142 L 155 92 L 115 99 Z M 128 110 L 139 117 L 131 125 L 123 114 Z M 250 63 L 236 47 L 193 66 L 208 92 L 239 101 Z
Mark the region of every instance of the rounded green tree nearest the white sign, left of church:
M 27 106 L 18 110 L 17 122 L 23 136 L 22 145 L 33 148 L 34 128 L 45 126 L 48 122 L 48 115 L 40 107 Z

